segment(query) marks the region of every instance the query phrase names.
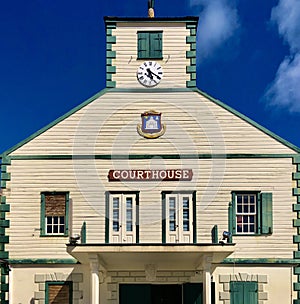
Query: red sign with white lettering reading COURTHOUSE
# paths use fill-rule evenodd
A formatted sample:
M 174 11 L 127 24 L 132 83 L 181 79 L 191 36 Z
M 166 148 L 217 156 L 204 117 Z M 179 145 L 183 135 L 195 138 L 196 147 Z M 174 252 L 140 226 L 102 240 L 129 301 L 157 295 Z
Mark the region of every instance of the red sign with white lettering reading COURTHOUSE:
M 109 170 L 108 180 L 115 181 L 190 181 L 192 169 Z

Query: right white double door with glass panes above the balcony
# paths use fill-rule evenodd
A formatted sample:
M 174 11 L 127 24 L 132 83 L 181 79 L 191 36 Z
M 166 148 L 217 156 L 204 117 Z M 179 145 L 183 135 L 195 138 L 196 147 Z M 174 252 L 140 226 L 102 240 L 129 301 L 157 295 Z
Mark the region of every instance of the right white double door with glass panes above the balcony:
M 166 242 L 193 243 L 192 194 L 166 194 Z

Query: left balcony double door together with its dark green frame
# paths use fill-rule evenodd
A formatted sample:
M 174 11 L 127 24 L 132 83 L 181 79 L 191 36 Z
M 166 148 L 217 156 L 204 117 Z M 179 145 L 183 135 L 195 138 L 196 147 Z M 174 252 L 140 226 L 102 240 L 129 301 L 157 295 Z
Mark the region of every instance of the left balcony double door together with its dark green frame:
M 138 192 L 106 193 L 106 242 L 138 243 Z

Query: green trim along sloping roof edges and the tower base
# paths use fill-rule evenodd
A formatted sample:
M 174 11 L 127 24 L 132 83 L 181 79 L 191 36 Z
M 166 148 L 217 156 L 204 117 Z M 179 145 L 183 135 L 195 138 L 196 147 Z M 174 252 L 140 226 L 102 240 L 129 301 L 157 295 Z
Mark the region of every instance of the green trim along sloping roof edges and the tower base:
M 86 101 L 84 101 L 83 103 L 78 105 L 77 107 L 73 108 L 72 110 L 70 110 L 66 114 L 62 115 L 61 117 L 57 118 L 56 120 L 54 120 L 50 124 L 46 125 L 42 129 L 38 130 L 37 132 L 35 132 L 31 136 L 29 136 L 28 138 L 24 139 L 23 141 L 16 144 L 12 148 L 4 151 L 2 154 L 0 154 L 0 158 L 3 158 L 5 155 L 9 155 L 10 153 L 16 151 L 18 148 L 20 148 L 23 145 L 25 145 L 26 143 L 30 142 L 32 139 L 34 139 L 34 138 L 38 137 L 39 135 L 43 134 L 44 132 L 46 132 L 47 130 L 52 128 L 53 126 L 57 125 L 58 123 L 60 123 L 64 119 L 66 119 L 67 117 L 71 116 L 75 112 L 79 111 L 80 109 L 82 109 L 86 105 L 90 104 L 91 102 L 93 102 L 94 100 L 96 100 L 97 98 L 101 97 L 102 95 L 104 95 L 108 92 L 130 92 L 130 93 L 134 93 L 134 92 L 136 92 L 136 93 L 165 92 L 165 93 L 167 93 L 167 92 L 186 92 L 186 91 L 196 92 L 196 93 L 206 97 L 207 99 L 209 99 L 213 103 L 219 105 L 220 107 L 224 108 L 228 112 L 234 114 L 235 116 L 239 117 L 240 119 L 242 119 L 245 122 L 249 123 L 250 125 L 254 126 L 256 129 L 258 129 L 258 130 L 262 131 L 263 133 L 267 134 L 268 136 L 272 137 L 273 139 L 275 139 L 279 143 L 283 144 L 284 146 L 292 149 L 296 153 L 300 153 L 300 148 L 299 147 L 297 147 L 294 144 L 288 142 L 287 140 L 281 138 L 280 136 L 276 135 L 275 133 L 271 132 L 270 130 L 266 129 L 265 127 L 261 126 L 260 124 L 256 123 L 255 121 L 248 118 L 247 116 L 241 114 L 240 112 L 236 111 L 235 109 L 231 108 L 230 106 L 226 105 L 225 103 L 221 102 L 220 100 L 217 100 L 217 99 L 211 97 L 210 95 L 206 94 L 205 92 L 203 92 L 203 91 L 201 91 L 197 88 L 196 89 L 187 89 L 187 88 L 183 88 L 183 89 L 167 89 L 167 88 L 166 89 L 158 89 L 158 88 L 156 88 L 156 89 L 103 89 L 102 91 L 100 91 L 99 93 L 90 97 L 89 99 L 87 99 Z

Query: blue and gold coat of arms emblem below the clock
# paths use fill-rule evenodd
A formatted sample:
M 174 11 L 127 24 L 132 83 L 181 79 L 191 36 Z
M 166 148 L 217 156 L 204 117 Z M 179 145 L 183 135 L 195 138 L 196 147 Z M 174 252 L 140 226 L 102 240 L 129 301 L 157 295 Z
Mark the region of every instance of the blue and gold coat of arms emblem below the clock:
M 158 138 L 166 131 L 166 125 L 161 122 L 161 113 L 146 111 L 141 114 L 142 124 L 138 124 L 138 133 L 145 138 Z

